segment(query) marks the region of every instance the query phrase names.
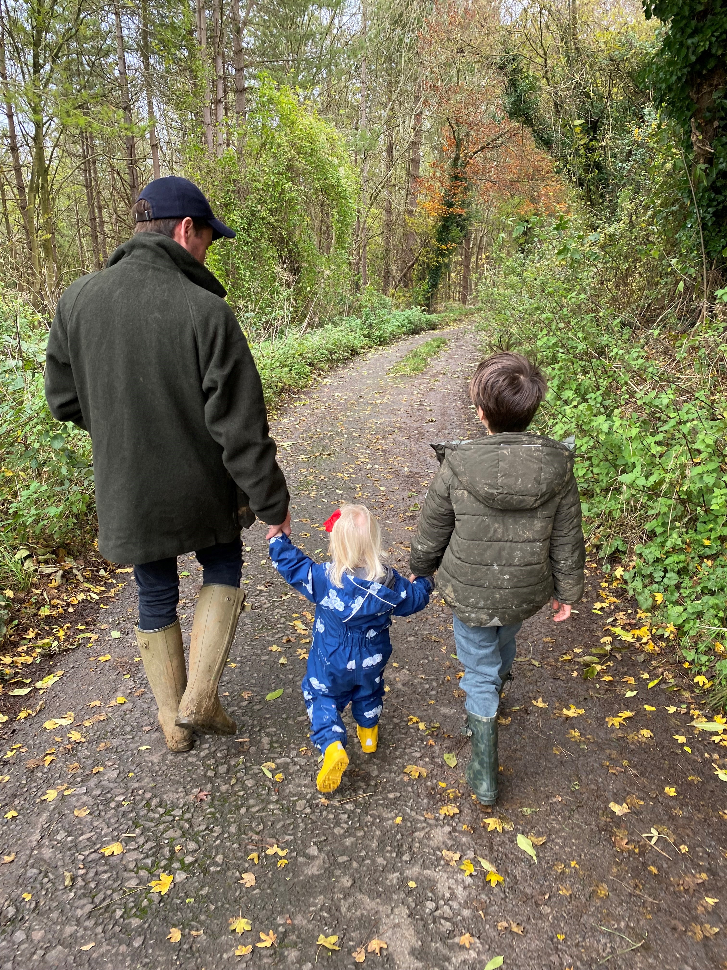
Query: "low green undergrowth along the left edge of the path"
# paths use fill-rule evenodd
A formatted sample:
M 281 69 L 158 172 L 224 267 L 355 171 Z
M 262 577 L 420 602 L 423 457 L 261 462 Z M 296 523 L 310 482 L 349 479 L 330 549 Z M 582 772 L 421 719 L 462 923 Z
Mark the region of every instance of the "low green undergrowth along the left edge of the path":
M 359 313 L 252 345 L 269 406 L 317 373 L 457 315 L 396 309 L 375 294 L 366 294 Z M 75 555 L 96 534 L 90 439 L 47 409 L 46 344 L 47 321 L 13 291 L 0 292 L 0 639 L 13 592 L 28 589 L 60 548 Z

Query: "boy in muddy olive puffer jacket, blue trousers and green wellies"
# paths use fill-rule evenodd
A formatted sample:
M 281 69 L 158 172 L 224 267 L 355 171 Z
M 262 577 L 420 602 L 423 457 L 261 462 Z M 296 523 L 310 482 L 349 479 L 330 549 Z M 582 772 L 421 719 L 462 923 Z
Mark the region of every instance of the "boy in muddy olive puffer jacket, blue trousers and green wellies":
M 497 708 L 511 679 L 522 621 L 550 598 L 567 620 L 584 592 L 585 546 L 573 452 L 526 429 L 547 390 L 521 354 L 494 354 L 469 386 L 488 436 L 435 445 L 434 476 L 412 541 L 418 576 L 437 570 L 454 613 L 472 737 L 465 775 L 484 804 L 497 798 Z

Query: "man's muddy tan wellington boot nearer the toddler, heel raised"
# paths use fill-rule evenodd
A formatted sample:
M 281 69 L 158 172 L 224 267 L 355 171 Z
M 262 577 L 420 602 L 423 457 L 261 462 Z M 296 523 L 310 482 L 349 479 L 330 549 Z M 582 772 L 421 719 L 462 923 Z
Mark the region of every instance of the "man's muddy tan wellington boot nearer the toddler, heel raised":
M 202 587 L 189 645 L 189 681 L 179 703 L 177 727 L 194 727 L 210 734 L 237 731 L 220 703 L 217 687 L 244 601 L 244 593 L 234 586 L 210 583 Z

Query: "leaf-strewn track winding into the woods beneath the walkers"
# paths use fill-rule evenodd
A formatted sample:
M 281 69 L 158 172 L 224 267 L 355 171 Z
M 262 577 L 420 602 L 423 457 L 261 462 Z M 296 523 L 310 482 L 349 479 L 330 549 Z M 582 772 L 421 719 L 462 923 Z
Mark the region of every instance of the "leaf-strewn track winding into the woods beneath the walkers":
M 393 564 L 406 570 L 418 503 L 436 469 L 428 442 L 477 433 L 466 379 L 479 338 L 464 328 L 445 336 L 449 349 L 424 374 L 387 370 L 429 335 L 332 373 L 273 422 L 294 495 L 293 538 L 316 558 L 332 509 L 360 497 L 381 520 Z M 135 662 L 131 583 L 99 615 L 92 647 L 63 658 L 66 674 L 44 713 L 4 726 L 16 754 L 3 760 L 0 814 L 17 815 L 2 820 L 0 851 L 16 857 L 0 864 L 0 970 L 236 962 L 311 970 L 316 959 L 353 967 L 352 954 L 372 939 L 387 948 L 366 953 L 365 964 L 398 970 L 481 970 L 498 954 L 505 968 L 575 970 L 604 960 L 610 970 L 727 967 L 718 735 L 689 727 L 698 709 L 679 668 L 660 665 L 667 651 L 644 652 L 638 637 L 617 641 L 626 649 L 595 679 L 581 677 L 579 657 L 599 645 L 604 625 L 648 622 L 617 601 L 617 588 L 602 591 L 603 577 L 591 575 L 572 623 L 554 627 L 546 610 L 523 627 L 501 712 L 497 812 L 473 801 L 463 781 L 459 665 L 437 597 L 395 622 L 379 751 L 364 757 L 354 733 L 351 766 L 327 803 L 315 790 L 299 686 L 311 611 L 270 568 L 264 534 L 259 525 L 246 533 L 252 610 L 222 688 L 237 737 L 203 739 L 188 755 L 166 750 Z M 180 568 L 189 573 L 180 607 L 188 633 L 200 578 L 193 557 Z M 591 611 L 601 592 L 613 596 L 602 616 Z M 266 701 L 279 688 L 283 695 Z M 570 705 L 575 717 L 556 716 Z M 630 718 L 607 727 L 607 717 L 626 710 Z M 41 723 L 67 711 L 69 725 Z M 457 754 L 456 767 L 445 754 Z M 274 764 L 272 778 L 264 764 Z M 418 778 L 404 773 L 412 764 L 425 769 Z M 39 800 L 49 789 L 68 793 Z M 628 813 L 616 817 L 610 802 Z M 642 835 L 650 832 L 659 836 L 653 847 Z M 545 837 L 537 863 L 518 847 L 519 833 Z M 114 842 L 122 854 L 99 853 Z M 273 846 L 285 855 L 267 855 Z M 443 852 L 458 854 L 454 864 Z M 503 882 L 491 887 L 478 857 Z M 465 859 L 472 875 L 460 868 Z M 164 896 L 145 888 L 160 870 L 174 873 Z M 254 886 L 240 882 L 243 873 Z M 238 917 L 251 930 L 231 931 Z M 274 947 L 235 956 L 270 930 Z M 319 952 L 319 934 L 337 936 L 340 952 Z

